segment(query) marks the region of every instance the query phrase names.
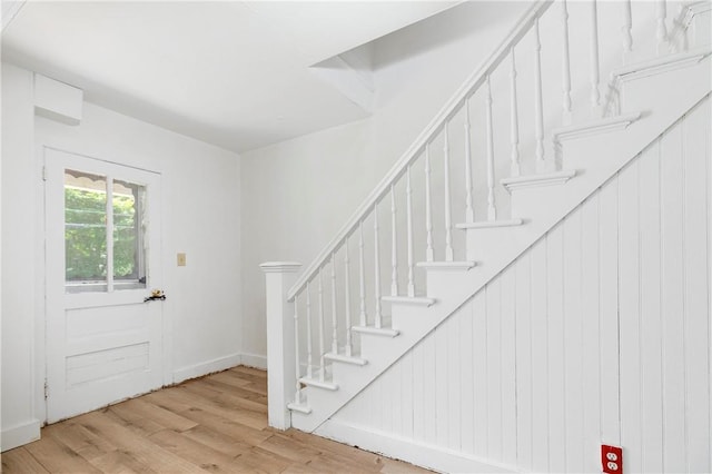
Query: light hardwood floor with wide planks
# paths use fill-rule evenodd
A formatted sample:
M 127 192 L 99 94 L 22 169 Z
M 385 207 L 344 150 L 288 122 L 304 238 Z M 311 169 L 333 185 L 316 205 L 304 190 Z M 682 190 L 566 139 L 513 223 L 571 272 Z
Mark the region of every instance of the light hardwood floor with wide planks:
M 42 428 L 2 453 L 12 473 L 424 473 L 267 426 L 267 374 L 235 367 Z

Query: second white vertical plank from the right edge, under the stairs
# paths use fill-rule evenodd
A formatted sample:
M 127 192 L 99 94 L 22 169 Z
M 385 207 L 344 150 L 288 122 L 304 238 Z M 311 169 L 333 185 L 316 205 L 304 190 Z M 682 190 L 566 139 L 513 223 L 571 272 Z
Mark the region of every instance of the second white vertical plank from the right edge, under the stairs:
M 685 461 L 684 267 L 682 134 L 673 127 L 661 138 L 661 218 L 663 258 L 663 463 L 675 471 Z

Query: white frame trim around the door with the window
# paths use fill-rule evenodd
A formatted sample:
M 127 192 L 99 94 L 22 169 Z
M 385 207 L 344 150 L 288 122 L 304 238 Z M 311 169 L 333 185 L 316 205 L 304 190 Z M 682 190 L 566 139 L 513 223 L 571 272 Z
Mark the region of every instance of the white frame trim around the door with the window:
M 34 377 L 34 384 L 36 386 L 32 387 L 32 393 L 34 394 L 34 413 L 37 418 L 40 421 L 40 424 L 42 426 L 48 424 L 48 388 L 51 391 L 51 387 L 47 386 L 48 383 L 48 356 L 49 356 L 49 350 L 48 350 L 48 332 L 47 332 L 47 327 L 48 327 L 48 322 L 49 322 L 49 310 L 48 310 L 48 285 L 49 285 L 49 271 L 48 271 L 48 264 L 47 264 L 47 258 L 48 258 L 48 235 L 49 235 L 49 228 L 48 228 L 48 209 L 47 209 L 47 192 L 48 192 L 48 176 L 47 176 L 47 156 L 48 152 L 62 152 L 62 154 L 69 154 L 69 155 L 76 155 L 78 157 L 81 158 L 87 158 L 87 159 L 91 159 L 91 160 L 97 160 L 100 162 L 105 162 L 105 164 L 109 164 L 109 165 L 116 165 L 116 166 L 121 166 L 121 167 L 126 167 L 126 168 L 132 168 L 139 171 L 144 171 L 144 172 L 151 172 L 155 174 L 159 177 L 159 179 L 162 181 L 164 175 L 161 171 L 155 170 L 155 169 L 149 169 L 149 168 L 144 168 L 144 167 L 138 167 L 138 166 L 134 166 L 134 165 L 127 165 L 117 160 L 110 160 L 110 159 L 103 159 L 103 158 L 97 158 L 96 156 L 91 156 L 91 155 L 87 155 L 87 154 L 82 154 L 82 152 L 78 152 L 78 151 L 73 151 L 73 150 L 69 150 L 69 149 L 65 149 L 61 147 L 56 147 L 56 146 L 51 146 L 51 145 L 44 145 L 44 144 L 37 144 L 37 151 L 36 151 L 36 157 L 37 157 L 37 166 L 38 166 L 38 176 L 40 177 L 40 186 L 38 186 L 38 191 L 36 194 L 37 199 L 38 199 L 38 205 L 39 208 L 41 209 L 39 213 L 36 214 L 36 226 L 38 228 L 38 233 L 36 233 L 37 237 L 37 243 L 36 243 L 36 249 L 38 251 L 37 255 L 40 256 L 40 258 L 37 259 L 37 266 L 36 266 L 36 282 L 37 282 L 37 287 L 38 287 L 38 295 L 41 295 L 41 298 L 38 298 L 38 304 L 36 306 L 36 315 L 34 315 L 34 368 L 36 368 L 36 377 Z M 165 192 L 162 192 L 162 184 L 161 184 L 161 192 L 160 196 L 158 197 L 158 203 L 159 203 L 159 207 L 160 207 L 160 214 L 161 214 L 161 226 L 158 233 L 158 240 L 160 243 L 160 253 L 158 255 L 158 259 L 159 259 L 159 269 L 161 273 L 161 289 L 166 289 L 166 284 L 167 284 L 167 265 L 166 265 L 166 249 L 164 248 L 164 228 L 165 228 L 165 223 L 164 220 L 164 216 L 165 214 Z M 150 292 L 150 288 L 146 288 L 147 294 Z M 172 318 L 168 317 L 168 315 L 170 314 L 170 304 L 168 303 L 168 300 L 162 302 L 161 304 L 161 374 L 160 374 L 160 379 L 161 379 L 161 386 L 167 386 L 172 384 L 174 382 L 174 362 L 172 362 Z

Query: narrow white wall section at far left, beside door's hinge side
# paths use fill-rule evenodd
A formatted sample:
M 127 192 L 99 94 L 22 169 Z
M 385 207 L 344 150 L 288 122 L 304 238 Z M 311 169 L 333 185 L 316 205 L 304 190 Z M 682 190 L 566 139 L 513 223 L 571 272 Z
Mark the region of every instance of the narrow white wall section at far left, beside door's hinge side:
M 32 75 L 2 65 L 2 446 L 39 436 L 34 409 Z M 10 231 L 9 229 L 13 229 Z

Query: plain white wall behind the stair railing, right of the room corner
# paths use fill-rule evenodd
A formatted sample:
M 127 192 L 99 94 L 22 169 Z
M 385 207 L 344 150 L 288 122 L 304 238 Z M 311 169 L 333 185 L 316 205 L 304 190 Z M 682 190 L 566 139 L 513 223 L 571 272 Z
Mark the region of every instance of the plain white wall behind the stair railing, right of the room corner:
M 374 46 L 370 118 L 243 154 L 246 353 L 266 353 L 258 265 L 309 264 L 526 6 L 468 2 L 392 34 Z

